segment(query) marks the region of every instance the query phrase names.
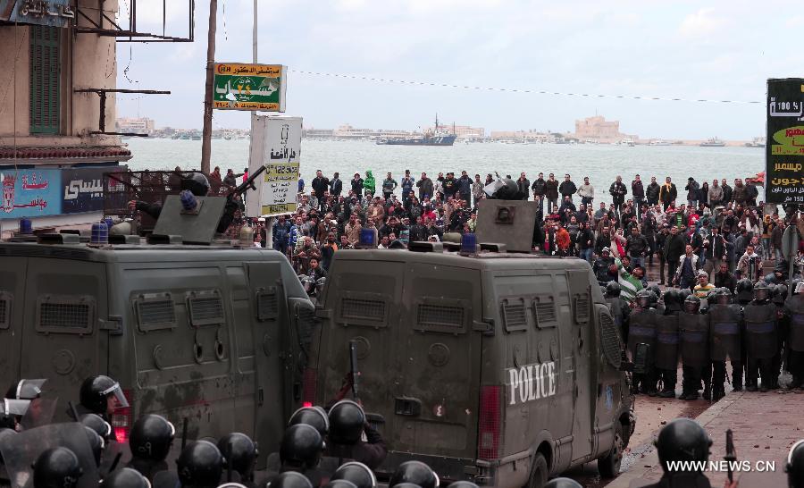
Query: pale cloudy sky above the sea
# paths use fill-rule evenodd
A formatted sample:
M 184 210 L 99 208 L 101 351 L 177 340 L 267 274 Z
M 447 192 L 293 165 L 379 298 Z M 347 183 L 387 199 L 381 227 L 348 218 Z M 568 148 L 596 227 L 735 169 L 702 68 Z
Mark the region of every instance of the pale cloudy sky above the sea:
M 127 0 L 121 0 L 125 13 Z M 138 0 L 138 29 L 161 31 L 162 0 Z M 168 31 L 187 33 L 170 0 Z M 789 1 L 259 0 L 259 61 L 291 70 L 563 93 L 764 101 L 767 78 L 804 75 L 804 11 Z M 225 8 L 225 14 L 224 14 Z M 218 0 L 218 62 L 251 61 L 252 0 Z M 200 128 L 209 4 L 196 42 L 118 44 L 119 116 Z M 225 22 L 225 25 L 224 25 Z M 798 35 L 796 35 L 798 34 Z M 130 51 L 131 46 L 131 51 Z M 131 55 L 131 56 L 130 56 Z M 128 72 L 124 72 L 128 67 Z M 764 103 L 764 102 L 763 102 Z M 643 101 L 406 86 L 291 72 L 287 114 L 306 127 L 416 129 L 440 120 L 487 130 L 574 130 L 598 114 L 642 138 L 751 139 L 763 104 Z M 248 125 L 216 111 L 214 127 Z

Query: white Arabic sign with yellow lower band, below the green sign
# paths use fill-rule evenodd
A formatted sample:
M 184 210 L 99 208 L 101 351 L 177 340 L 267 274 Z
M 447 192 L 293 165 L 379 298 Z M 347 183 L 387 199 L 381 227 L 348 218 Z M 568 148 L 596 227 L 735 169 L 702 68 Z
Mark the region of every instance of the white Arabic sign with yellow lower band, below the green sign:
M 266 169 L 257 190 L 246 193 L 247 215 L 296 212 L 301 130 L 301 117 L 255 117 L 248 171 Z

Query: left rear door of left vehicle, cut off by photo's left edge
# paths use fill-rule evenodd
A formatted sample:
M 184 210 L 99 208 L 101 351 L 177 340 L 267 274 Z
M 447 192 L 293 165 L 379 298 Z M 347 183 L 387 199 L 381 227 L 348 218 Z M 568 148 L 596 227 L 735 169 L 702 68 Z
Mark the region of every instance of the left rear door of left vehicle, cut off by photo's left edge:
M 27 257 L 0 257 L 0 384 L 4 387 L 20 375 L 27 266 Z

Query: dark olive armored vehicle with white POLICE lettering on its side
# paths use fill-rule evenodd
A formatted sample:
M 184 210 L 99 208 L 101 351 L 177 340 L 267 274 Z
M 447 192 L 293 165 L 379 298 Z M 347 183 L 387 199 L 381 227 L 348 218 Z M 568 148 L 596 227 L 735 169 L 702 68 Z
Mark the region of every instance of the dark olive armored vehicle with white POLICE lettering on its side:
M 480 212 L 479 240 L 521 233 L 512 247 L 531 248 L 527 202 L 489 200 Z M 471 242 L 342 250 L 322 295 L 308 400 L 339 391 L 356 349 L 360 400 L 389 446 L 380 475 L 410 459 L 489 486 L 541 486 L 595 459 L 602 475 L 619 471 L 632 397 L 585 261 Z

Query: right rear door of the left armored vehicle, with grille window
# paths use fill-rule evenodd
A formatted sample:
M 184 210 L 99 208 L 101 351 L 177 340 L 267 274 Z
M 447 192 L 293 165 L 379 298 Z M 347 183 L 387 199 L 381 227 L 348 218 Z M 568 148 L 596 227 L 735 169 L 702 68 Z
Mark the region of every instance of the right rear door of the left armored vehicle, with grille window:
M 74 399 L 84 378 L 107 371 L 106 290 L 104 263 L 29 258 L 21 377 L 47 378 L 48 396 Z

